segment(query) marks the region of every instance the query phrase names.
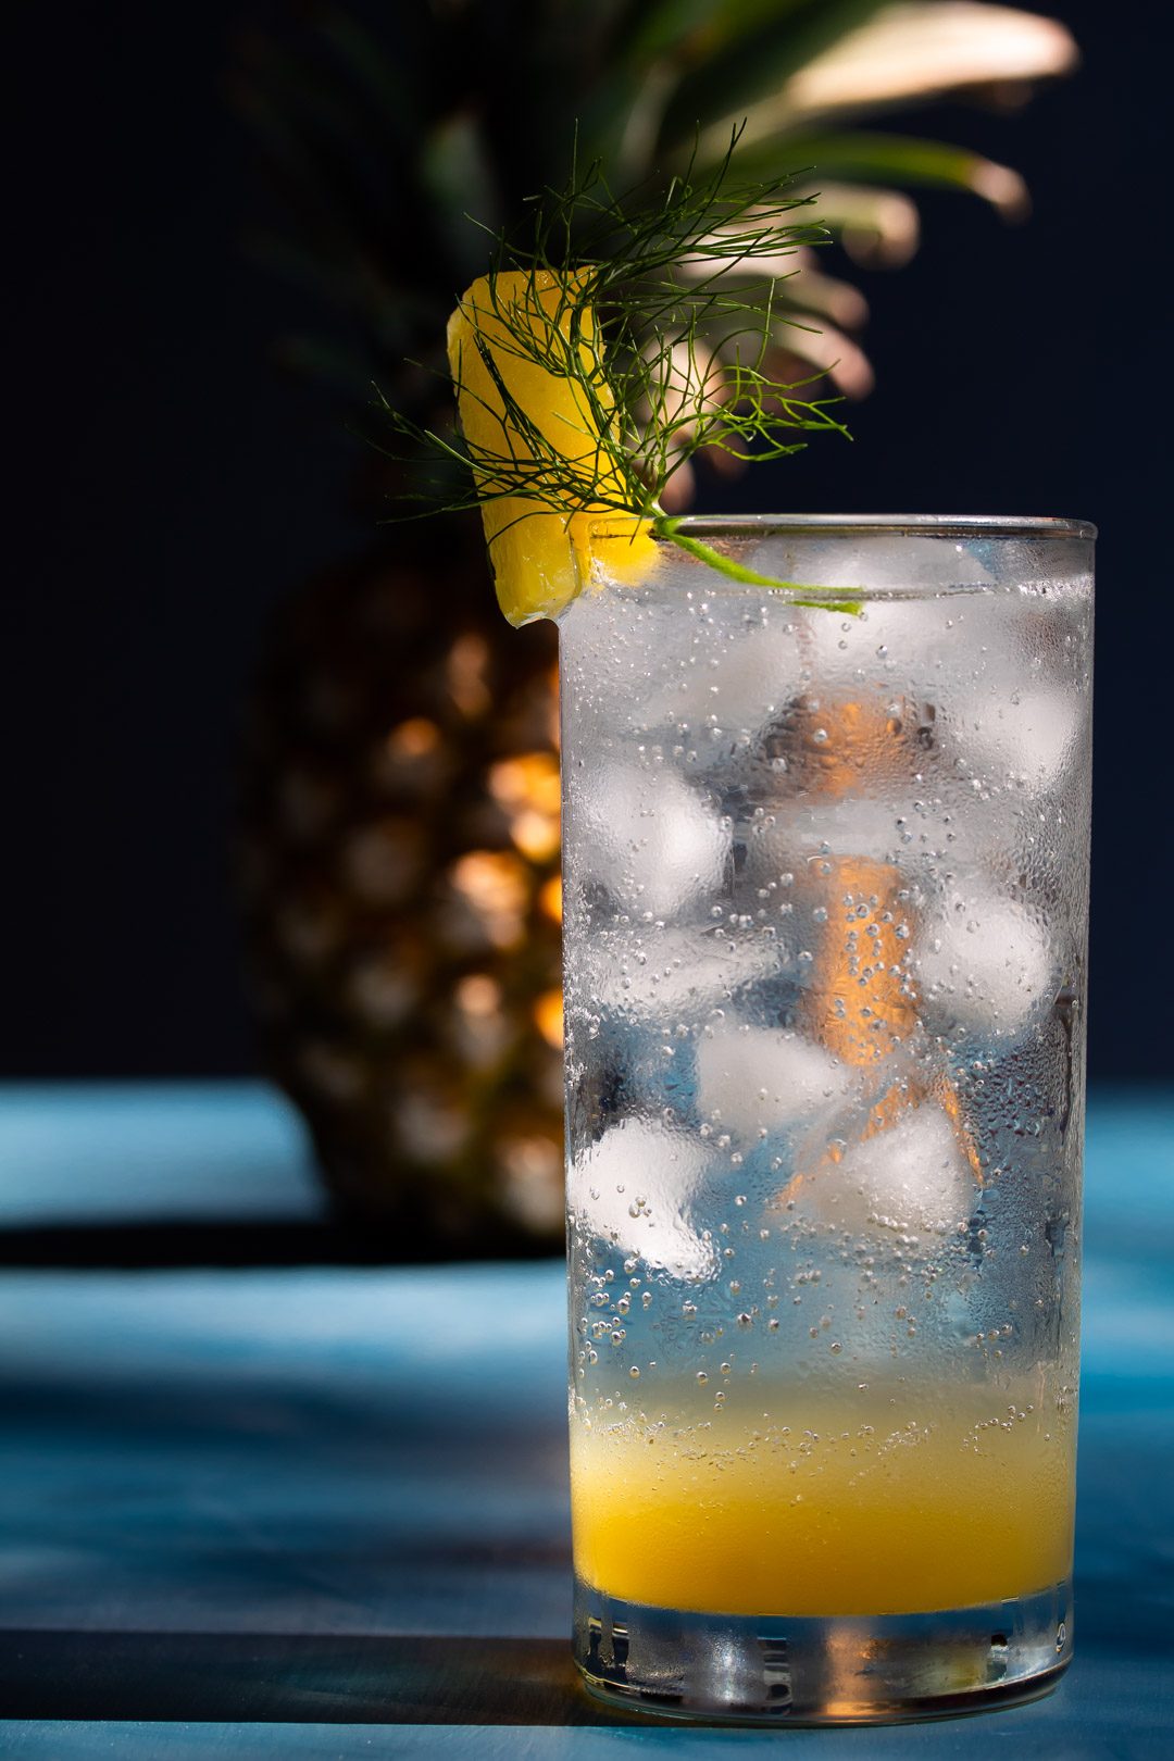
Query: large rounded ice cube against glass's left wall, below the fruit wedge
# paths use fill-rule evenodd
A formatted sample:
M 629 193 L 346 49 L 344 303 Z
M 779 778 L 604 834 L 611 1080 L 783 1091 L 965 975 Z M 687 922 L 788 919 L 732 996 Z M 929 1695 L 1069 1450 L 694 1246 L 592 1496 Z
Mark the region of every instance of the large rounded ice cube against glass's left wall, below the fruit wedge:
M 613 764 L 574 801 L 569 851 L 590 875 L 648 921 L 669 917 L 722 888 L 732 829 L 672 771 Z

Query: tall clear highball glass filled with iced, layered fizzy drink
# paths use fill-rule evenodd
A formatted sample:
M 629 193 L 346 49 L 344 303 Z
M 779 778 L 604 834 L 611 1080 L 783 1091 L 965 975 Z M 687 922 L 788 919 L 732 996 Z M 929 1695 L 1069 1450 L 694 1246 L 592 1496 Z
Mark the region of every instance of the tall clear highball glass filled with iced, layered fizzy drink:
M 561 620 L 576 1657 L 669 1715 L 1026 1698 L 1072 1652 L 1095 530 L 686 532 L 739 578 L 665 544 Z

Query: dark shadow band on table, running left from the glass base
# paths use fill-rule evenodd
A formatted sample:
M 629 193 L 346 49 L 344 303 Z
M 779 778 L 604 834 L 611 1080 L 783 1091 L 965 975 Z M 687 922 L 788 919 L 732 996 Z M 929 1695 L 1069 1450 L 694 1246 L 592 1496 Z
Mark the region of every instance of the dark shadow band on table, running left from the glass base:
M 0 1717 L 637 1724 L 588 1699 L 565 1639 L 2 1632 Z

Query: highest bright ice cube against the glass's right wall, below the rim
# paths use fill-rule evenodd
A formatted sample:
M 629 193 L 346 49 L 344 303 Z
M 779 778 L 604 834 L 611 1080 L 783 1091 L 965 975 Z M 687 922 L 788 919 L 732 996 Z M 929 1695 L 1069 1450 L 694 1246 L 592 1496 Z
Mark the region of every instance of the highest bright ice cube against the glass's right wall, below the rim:
M 1084 713 L 1075 694 L 1030 689 L 963 690 L 943 711 L 942 727 L 958 754 L 991 782 L 1014 777 L 1033 789 L 1054 784 L 1074 750 Z

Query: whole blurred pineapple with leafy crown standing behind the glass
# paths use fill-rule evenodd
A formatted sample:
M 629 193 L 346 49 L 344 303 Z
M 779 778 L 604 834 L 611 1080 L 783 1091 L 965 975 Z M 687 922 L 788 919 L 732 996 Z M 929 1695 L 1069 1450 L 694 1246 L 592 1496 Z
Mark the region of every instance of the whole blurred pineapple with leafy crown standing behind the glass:
M 329 9 L 306 30 L 246 44 L 236 90 L 294 220 L 264 248 L 343 308 L 359 349 L 287 356 L 356 409 L 375 380 L 431 424 L 445 317 L 486 266 L 465 215 L 516 224 L 565 181 L 576 123 L 581 162 L 628 187 L 720 157 L 746 118 L 736 167 L 850 176 L 820 181 L 820 218 L 848 254 L 899 261 L 915 210 L 884 185 L 1010 213 L 1021 180 L 847 122 L 1074 60 L 1061 26 L 965 0 L 468 0 L 393 11 L 378 39 Z M 868 389 L 855 291 L 811 262 L 785 291 L 818 326 L 787 349 Z M 250 997 L 326 1180 L 389 1256 L 561 1240 L 556 740 L 554 630 L 507 629 L 475 518 L 385 528 L 273 632 L 241 763 Z

